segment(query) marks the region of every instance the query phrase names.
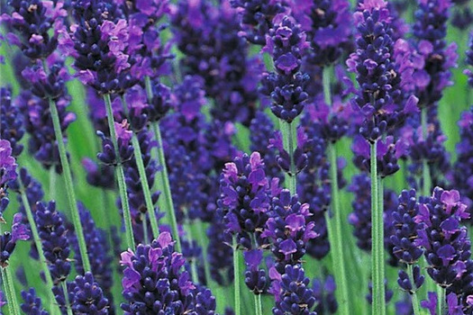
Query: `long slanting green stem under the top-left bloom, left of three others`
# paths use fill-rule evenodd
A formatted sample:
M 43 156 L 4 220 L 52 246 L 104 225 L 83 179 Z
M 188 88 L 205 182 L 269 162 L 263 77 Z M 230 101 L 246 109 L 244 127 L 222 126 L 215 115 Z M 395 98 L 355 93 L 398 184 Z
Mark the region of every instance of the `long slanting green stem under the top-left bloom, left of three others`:
M 60 164 L 66 182 L 66 193 L 68 194 L 68 203 L 70 207 L 70 214 L 74 229 L 76 229 L 77 243 L 79 246 L 80 257 L 82 258 L 82 265 L 84 271 L 90 271 L 90 263 L 88 261 L 86 238 L 84 238 L 84 231 L 82 230 L 82 223 L 80 222 L 79 211 L 77 208 L 76 193 L 74 193 L 74 186 L 72 184 L 72 172 L 70 171 L 68 155 L 66 154 L 66 146 L 64 145 L 64 138 L 62 130 L 60 129 L 59 113 L 56 102 L 50 99 L 50 113 L 52 118 L 52 125 L 54 126 L 54 134 L 59 148 Z

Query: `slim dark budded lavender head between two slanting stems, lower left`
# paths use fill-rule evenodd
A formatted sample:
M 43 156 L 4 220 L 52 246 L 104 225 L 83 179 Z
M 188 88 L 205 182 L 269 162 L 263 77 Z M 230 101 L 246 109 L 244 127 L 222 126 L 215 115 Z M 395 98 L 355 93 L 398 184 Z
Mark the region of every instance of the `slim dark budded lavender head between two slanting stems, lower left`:
M 70 273 L 70 247 L 66 227 L 59 212 L 56 211 L 56 203 L 38 202 L 35 221 L 53 283 L 66 281 Z

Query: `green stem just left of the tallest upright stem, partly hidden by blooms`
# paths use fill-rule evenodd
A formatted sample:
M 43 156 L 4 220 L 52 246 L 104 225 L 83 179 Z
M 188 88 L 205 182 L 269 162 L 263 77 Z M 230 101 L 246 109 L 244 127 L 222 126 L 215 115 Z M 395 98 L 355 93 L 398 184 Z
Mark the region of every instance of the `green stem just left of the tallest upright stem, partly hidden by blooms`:
M 330 76 L 331 76 L 332 67 L 323 68 L 323 96 L 325 103 L 332 106 L 332 96 L 330 91 Z M 338 170 L 337 170 L 337 150 L 335 144 L 330 142 L 328 143 L 328 155 L 330 162 L 330 178 L 331 178 L 331 188 L 332 188 L 332 211 L 333 211 L 333 229 L 332 229 L 332 241 L 331 244 L 333 247 L 333 252 L 335 257 L 333 259 L 333 274 L 335 276 L 335 281 L 340 287 L 340 308 L 341 314 L 350 314 L 350 305 L 349 305 L 349 293 L 347 285 L 347 275 L 345 269 L 345 257 L 343 252 L 343 242 L 341 236 L 341 222 L 342 222 L 342 213 L 340 206 L 340 195 L 339 195 L 339 184 L 338 184 Z M 328 220 L 331 220 L 327 216 Z

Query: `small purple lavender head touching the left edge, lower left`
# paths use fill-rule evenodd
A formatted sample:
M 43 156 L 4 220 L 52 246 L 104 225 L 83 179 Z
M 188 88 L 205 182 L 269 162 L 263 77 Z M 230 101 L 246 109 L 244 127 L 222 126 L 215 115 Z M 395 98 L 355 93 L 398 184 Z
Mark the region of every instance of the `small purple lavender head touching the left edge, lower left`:
M 14 252 L 18 240 L 27 240 L 30 238 L 30 230 L 22 223 L 22 214 L 15 213 L 12 223 L 12 231 L 4 232 L 0 236 L 0 266 L 8 266 L 8 259 Z

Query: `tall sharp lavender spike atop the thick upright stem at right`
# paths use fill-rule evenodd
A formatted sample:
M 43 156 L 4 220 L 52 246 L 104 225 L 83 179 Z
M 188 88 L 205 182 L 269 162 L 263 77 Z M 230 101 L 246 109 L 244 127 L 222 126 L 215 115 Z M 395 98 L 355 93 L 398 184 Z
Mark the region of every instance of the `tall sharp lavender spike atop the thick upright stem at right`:
M 359 10 L 355 14 L 357 49 L 347 65 L 359 83 L 359 93 L 353 100 L 365 117 L 359 131 L 365 139 L 375 142 L 387 129 L 385 115 L 393 112 L 394 99 L 400 93 L 395 84 L 393 30 L 385 1 L 365 1 L 359 4 Z

